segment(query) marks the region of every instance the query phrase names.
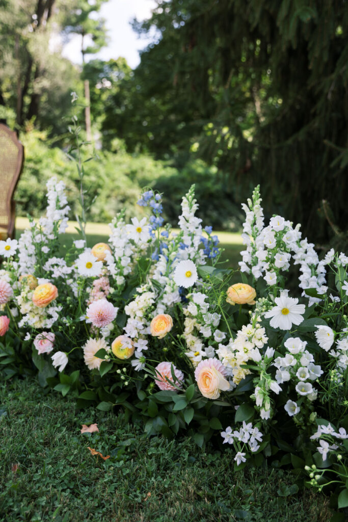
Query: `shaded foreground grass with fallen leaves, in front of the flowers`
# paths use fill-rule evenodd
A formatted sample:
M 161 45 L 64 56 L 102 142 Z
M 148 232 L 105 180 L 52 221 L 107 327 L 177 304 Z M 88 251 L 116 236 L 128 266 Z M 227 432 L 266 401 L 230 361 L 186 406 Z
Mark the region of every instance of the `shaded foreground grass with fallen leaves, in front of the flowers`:
M 150 440 L 121 410 L 77 410 L 33 379 L 0 384 L 0 520 L 39 522 L 327 522 L 328 499 L 281 496 L 294 477 L 233 471 L 233 452 L 188 437 Z M 98 423 L 99 433 L 80 433 Z M 110 455 L 92 455 L 88 446 Z M 282 487 L 282 490 L 280 490 Z

